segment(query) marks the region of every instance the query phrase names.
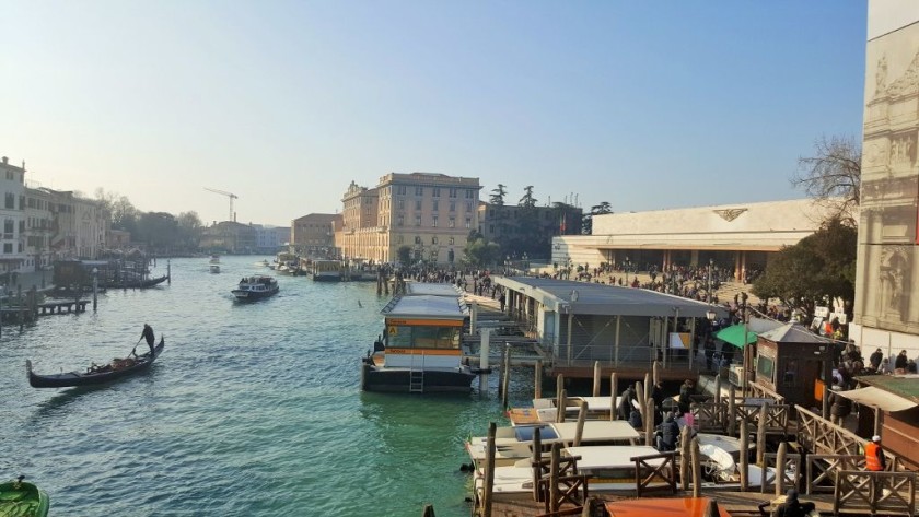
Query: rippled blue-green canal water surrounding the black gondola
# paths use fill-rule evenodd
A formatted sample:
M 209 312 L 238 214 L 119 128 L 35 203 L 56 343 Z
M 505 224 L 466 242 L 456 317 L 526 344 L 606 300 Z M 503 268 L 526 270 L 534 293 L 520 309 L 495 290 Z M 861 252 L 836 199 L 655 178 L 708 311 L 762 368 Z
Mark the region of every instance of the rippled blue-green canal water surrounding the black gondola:
M 207 258 L 174 259 L 171 285 L 5 326 L 0 478 L 25 474 L 55 516 L 420 516 L 426 504 L 468 516 L 463 440 L 505 422 L 497 375 L 487 393 L 364 393 L 360 356 L 388 299 L 372 283 L 279 277 L 277 296 L 234 302 L 241 277 L 274 274 L 263 258 L 223 257 L 219 274 Z M 93 389 L 28 386 L 26 359 L 38 373 L 106 363 L 144 322 L 166 339 L 150 372 Z M 532 397 L 532 374 L 519 378 L 514 403 Z

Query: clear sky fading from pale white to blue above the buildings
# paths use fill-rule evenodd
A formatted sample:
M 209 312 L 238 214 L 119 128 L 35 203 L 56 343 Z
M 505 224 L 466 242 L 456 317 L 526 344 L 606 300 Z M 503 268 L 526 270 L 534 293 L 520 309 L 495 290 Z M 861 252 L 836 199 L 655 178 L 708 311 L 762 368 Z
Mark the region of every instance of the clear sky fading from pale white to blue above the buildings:
M 863 0 L 0 0 L 0 155 L 210 224 L 478 177 L 615 212 L 804 198 L 861 140 Z

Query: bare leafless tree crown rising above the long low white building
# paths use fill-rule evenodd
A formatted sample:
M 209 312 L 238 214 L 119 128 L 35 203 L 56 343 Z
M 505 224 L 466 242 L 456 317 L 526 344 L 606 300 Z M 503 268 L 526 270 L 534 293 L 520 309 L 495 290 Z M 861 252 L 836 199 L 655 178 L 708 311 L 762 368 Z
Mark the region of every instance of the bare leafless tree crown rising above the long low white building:
M 861 145 L 846 137 L 821 137 L 815 156 L 799 157 L 791 184 L 807 196 L 828 204 L 833 218 L 852 220 L 861 189 Z

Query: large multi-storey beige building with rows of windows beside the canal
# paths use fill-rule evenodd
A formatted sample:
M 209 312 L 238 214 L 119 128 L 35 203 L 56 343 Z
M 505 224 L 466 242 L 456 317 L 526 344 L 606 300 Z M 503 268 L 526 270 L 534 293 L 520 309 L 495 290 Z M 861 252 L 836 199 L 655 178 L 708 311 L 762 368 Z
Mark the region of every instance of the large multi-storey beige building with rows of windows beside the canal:
M 463 260 L 469 231 L 478 227 L 478 178 L 391 173 L 369 189 L 353 181 L 341 201 L 336 246 L 348 258 L 394 262 L 398 249 L 411 260 L 447 265 Z

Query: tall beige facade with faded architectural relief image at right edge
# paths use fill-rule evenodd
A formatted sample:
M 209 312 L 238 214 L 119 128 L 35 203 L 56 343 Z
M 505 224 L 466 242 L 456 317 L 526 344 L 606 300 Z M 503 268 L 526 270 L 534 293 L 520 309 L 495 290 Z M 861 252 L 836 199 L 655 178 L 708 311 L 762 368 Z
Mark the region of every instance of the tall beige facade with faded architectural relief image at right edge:
M 919 4 L 869 2 L 861 220 L 849 336 L 919 356 Z

